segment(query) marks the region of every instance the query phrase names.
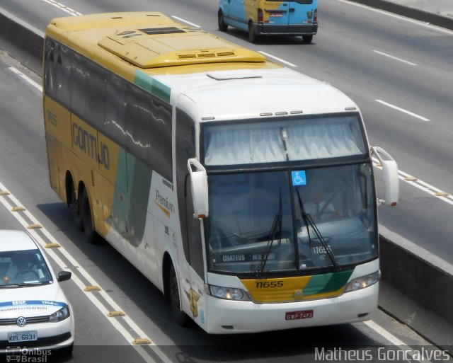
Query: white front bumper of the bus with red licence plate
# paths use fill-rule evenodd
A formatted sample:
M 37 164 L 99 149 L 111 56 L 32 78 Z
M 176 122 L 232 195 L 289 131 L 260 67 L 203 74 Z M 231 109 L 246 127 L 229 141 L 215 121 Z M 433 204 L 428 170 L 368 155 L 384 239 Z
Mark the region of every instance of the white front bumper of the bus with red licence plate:
M 379 282 L 330 299 L 280 304 L 255 304 L 207 296 L 204 328 L 213 334 L 259 333 L 366 321 L 377 312 L 378 292 Z M 304 311 L 306 313 L 302 313 Z M 312 317 L 301 318 L 310 316 L 309 311 L 313 311 Z

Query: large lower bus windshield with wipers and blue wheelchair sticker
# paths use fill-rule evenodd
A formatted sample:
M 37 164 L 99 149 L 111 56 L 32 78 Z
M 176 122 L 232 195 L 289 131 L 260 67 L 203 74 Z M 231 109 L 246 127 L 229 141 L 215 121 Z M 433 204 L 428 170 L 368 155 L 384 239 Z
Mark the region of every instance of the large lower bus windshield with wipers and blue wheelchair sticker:
M 369 163 L 357 163 L 209 175 L 210 270 L 256 273 L 333 267 L 327 246 L 337 267 L 377 258 L 371 173 Z

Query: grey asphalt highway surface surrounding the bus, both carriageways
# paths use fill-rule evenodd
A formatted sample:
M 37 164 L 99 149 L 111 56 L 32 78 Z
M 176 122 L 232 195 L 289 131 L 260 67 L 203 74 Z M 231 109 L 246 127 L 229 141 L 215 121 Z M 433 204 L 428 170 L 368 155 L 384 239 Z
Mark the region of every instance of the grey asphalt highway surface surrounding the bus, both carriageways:
M 8 7 L 8 11 L 41 30 L 50 18 L 67 15 L 45 1 L 33 4 L 30 7 L 30 2 L 25 0 L 0 1 L 1 7 Z M 214 1 L 192 0 L 183 4 L 170 0 L 152 4 L 130 1 L 127 6 L 115 1 L 68 1 L 65 5 L 81 13 L 162 11 L 219 34 Z M 297 66 L 297 70 L 340 88 L 360 105 L 371 144 L 389 151 L 401 171 L 416 175 L 440 190 L 452 191 L 453 33 L 336 0 L 326 0 L 320 5 L 319 18 L 323 21 L 313 45 L 302 45 L 293 38 L 250 45 L 246 35 L 237 31 L 222 36 L 284 59 Z M 38 83 L 40 79 L 6 54 L 2 54 L 0 63 L 0 182 L 76 258 L 108 296 L 120 304 L 127 316 L 139 322 L 140 328 L 157 345 L 152 352 L 144 349 L 145 357 L 151 357 L 151 362 L 164 361 L 165 357 L 171 362 L 310 362 L 314 360 L 314 348 L 321 346 L 362 352 L 376 345 L 393 349 L 389 337 L 384 338 L 364 323 L 246 337 L 209 336 L 195 327 L 178 327 L 173 323 L 168 304 L 152 284 L 108 244 L 87 245 L 83 235 L 74 229 L 68 209 L 48 186 L 40 93 L 8 67 L 20 69 Z M 398 105 L 429 121 L 376 100 Z M 401 182 L 400 205 L 379 209 L 379 218 L 387 228 L 452 262 L 451 208 L 452 204 Z M 2 208 L 0 228 L 21 228 L 21 225 Z M 76 266 L 69 267 L 77 270 Z M 64 287 L 69 299 L 74 301 L 76 314 L 76 347 L 71 362 L 144 359 L 135 348 L 126 345 L 124 335 L 105 317 L 107 309 L 93 306 L 74 282 L 67 282 Z M 428 345 L 384 314 L 379 314 L 376 321 L 407 344 Z M 282 342 L 285 350 L 281 348 Z M 372 358 L 379 360 L 377 355 Z

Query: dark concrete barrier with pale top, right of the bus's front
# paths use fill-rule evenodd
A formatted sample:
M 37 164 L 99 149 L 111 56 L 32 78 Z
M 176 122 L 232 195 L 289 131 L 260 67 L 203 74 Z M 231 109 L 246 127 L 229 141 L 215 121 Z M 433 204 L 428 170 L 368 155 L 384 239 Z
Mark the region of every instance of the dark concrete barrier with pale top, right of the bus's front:
M 379 226 L 379 306 L 427 340 L 453 347 L 453 266 Z

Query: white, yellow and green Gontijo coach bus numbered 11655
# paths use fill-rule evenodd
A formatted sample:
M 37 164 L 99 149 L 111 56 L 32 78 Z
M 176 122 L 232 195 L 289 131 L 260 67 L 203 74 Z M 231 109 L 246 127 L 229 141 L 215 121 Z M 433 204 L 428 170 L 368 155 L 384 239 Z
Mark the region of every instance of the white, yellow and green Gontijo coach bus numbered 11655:
M 372 154 L 386 204 L 398 178 L 350 98 L 154 12 L 56 18 L 43 67 L 50 185 L 178 323 L 247 333 L 372 317 Z

